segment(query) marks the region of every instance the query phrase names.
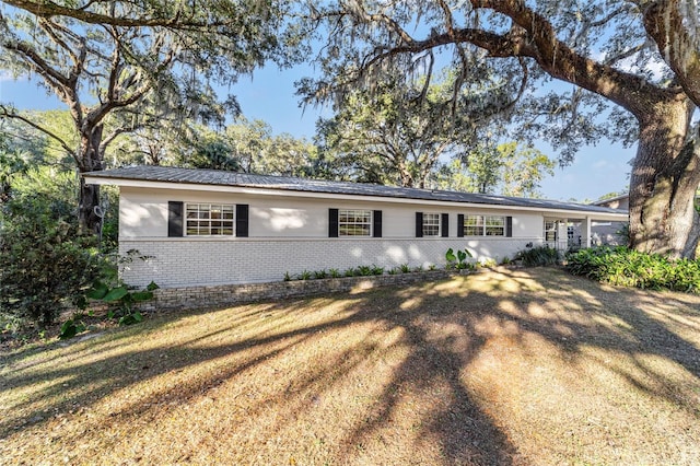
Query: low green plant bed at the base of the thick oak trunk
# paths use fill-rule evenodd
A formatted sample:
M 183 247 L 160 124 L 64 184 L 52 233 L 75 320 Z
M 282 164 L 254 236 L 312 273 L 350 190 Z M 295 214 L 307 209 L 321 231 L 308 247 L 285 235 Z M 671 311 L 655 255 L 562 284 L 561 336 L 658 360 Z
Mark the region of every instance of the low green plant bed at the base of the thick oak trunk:
M 616 286 L 700 293 L 700 260 L 674 260 L 623 246 L 571 253 L 567 270 Z

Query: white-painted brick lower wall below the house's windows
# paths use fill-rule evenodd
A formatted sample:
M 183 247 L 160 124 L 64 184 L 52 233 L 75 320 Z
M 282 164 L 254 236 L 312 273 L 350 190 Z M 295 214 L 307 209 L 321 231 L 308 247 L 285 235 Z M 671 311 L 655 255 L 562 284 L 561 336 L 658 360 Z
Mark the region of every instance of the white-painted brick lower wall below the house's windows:
M 478 260 L 513 255 L 541 237 L 517 238 L 158 238 L 121 240 L 119 252 L 137 249 L 154 256 L 135 259 L 122 267 L 128 284 L 143 287 L 151 280 L 160 287 L 192 287 L 279 281 L 284 272 L 298 275 L 336 268 L 376 265 L 392 268 L 436 265 L 444 267 L 447 248 L 467 247 Z

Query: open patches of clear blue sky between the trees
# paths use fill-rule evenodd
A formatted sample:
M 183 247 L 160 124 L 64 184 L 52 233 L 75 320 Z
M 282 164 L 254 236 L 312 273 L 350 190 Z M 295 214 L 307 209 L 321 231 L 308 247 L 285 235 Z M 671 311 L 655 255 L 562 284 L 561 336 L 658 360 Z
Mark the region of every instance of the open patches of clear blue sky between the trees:
M 238 98 L 246 118 L 267 121 L 276 133 L 289 132 L 311 140 L 323 109 L 301 108 L 299 96 L 294 95 L 294 81 L 312 72 L 302 66 L 281 71 L 270 66 L 256 71 L 253 77 L 242 77 L 230 92 Z M 35 83 L 14 81 L 1 74 L 0 102 L 13 103 L 24 109 L 65 108 Z M 551 158 L 557 155 L 544 145 L 538 149 Z M 606 140 L 596 147 L 583 147 L 573 164 L 556 168 L 555 176 L 542 182 L 541 191 L 549 199 L 574 198 L 580 201 L 620 191 L 629 183 L 629 161 L 633 156 L 634 148 L 623 149 Z

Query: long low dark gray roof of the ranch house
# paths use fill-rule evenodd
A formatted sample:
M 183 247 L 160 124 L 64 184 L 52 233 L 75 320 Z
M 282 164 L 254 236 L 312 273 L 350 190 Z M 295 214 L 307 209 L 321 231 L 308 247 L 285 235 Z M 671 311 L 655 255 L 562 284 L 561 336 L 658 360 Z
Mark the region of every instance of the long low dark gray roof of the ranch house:
M 436 200 L 444 202 L 467 202 L 489 206 L 529 207 L 581 212 L 622 213 L 619 209 L 586 206 L 575 202 L 562 202 L 557 200 L 527 199 L 438 189 L 400 188 L 362 183 L 328 182 L 322 179 L 295 178 L 291 176 L 255 175 L 249 173 L 178 168 L 172 166 L 129 166 L 124 168 L 91 172 L 84 175 L 100 177 L 103 179 L 114 179 L 115 184 L 118 184 L 118 179 L 132 179 L 176 184 L 240 186 L 318 194 Z

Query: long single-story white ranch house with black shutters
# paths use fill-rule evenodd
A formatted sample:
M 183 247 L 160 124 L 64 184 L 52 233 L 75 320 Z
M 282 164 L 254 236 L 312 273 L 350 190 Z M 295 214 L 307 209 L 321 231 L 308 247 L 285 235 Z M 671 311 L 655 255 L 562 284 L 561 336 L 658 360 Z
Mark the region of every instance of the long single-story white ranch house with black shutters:
M 280 281 L 285 272 L 376 265 L 444 267 L 448 248 L 500 261 L 544 244 L 582 247 L 596 222 L 626 210 L 542 199 L 131 166 L 83 175 L 119 187 L 119 253 L 132 286 L 162 288 Z

